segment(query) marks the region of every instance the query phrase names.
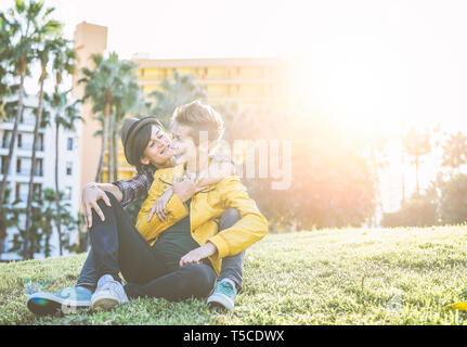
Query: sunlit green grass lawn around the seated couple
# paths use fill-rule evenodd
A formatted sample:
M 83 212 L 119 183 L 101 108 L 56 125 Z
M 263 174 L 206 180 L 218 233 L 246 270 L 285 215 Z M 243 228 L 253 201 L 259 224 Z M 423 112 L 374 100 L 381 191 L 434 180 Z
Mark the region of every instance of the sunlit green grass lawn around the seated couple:
M 0 264 L 0 324 L 465 324 L 442 307 L 467 300 L 466 245 L 467 227 L 270 234 L 247 250 L 233 312 L 145 298 L 38 318 L 27 283 L 74 285 L 86 255 Z

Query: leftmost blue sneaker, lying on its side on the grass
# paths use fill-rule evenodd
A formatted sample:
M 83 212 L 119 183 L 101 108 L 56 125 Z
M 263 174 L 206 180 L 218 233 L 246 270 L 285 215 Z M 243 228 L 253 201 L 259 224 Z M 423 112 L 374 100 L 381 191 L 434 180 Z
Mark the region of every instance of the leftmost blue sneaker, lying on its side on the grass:
M 39 316 L 63 314 L 90 307 L 91 296 L 92 292 L 82 286 L 68 286 L 55 293 L 34 293 L 27 297 L 26 306 Z

